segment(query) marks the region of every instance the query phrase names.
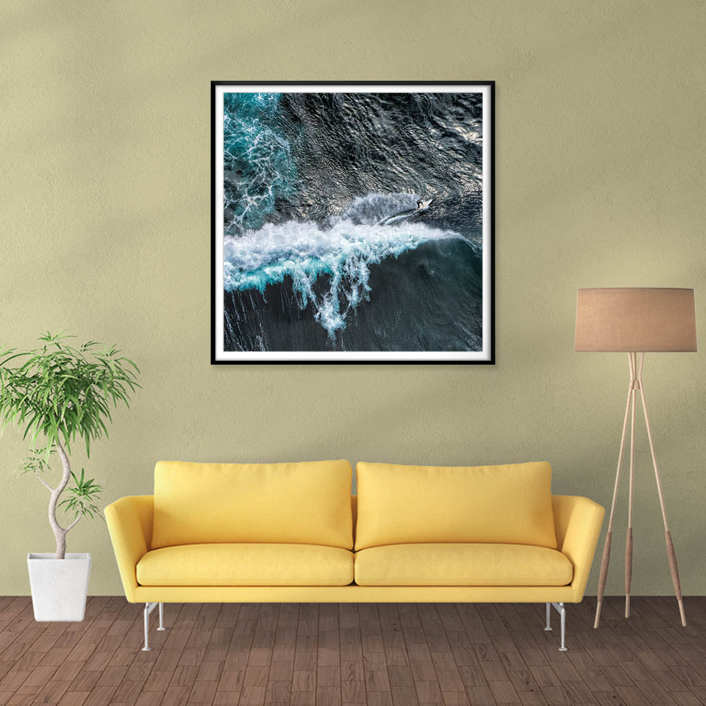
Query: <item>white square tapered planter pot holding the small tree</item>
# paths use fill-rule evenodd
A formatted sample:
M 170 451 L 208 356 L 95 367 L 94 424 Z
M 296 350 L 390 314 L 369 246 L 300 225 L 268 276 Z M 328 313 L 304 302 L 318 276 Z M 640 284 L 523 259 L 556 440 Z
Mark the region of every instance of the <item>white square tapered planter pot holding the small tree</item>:
M 90 554 L 28 554 L 36 621 L 82 621 L 88 595 Z

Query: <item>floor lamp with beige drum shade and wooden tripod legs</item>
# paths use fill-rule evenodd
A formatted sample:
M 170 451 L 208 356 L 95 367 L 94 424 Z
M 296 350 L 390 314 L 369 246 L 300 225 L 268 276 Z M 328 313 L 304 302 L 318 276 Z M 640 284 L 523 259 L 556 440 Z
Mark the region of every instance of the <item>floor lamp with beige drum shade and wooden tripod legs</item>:
M 669 525 L 664 508 L 662 482 L 659 480 L 657 456 L 654 454 L 650 417 L 647 416 L 645 389 L 642 385 L 642 367 L 647 351 L 695 351 L 696 318 L 694 312 L 693 289 L 662 289 L 654 287 L 627 287 L 618 289 L 579 289 L 576 303 L 577 351 L 588 352 L 627 352 L 630 362 L 630 386 L 628 403 L 623 421 L 623 436 L 618 453 L 618 470 L 613 491 L 613 503 L 608 522 L 606 542 L 603 547 L 601 573 L 598 581 L 598 603 L 594 628 L 601 618 L 601 604 L 606 588 L 606 576 L 611 557 L 613 520 L 616 510 L 616 497 L 620 482 L 623 452 L 625 450 L 628 418 L 630 419 L 630 495 L 628 500 L 628 535 L 625 548 L 625 616 L 630 617 L 630 587 L 633 578 L 633 477 L 635 472 L 635 400 L 640 397 L 642 412 L 645 415 L 647 438 L 654 466 L 654 479 L 657 481 L 659 505 L 662 508 L 666 553 L 669 558 L 671 580 L 679 604 L 681 624 L 686 626 L 684 604 L 681 597 L 679 570 L 676 566 L 674 544 L 669 534 Z

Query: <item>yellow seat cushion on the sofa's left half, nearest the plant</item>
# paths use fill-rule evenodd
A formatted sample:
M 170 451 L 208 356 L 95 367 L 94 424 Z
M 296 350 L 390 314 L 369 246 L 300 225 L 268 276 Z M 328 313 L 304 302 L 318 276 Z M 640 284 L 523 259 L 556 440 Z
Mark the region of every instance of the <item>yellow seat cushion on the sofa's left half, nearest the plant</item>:
M 353 553 L 316 544 L 184 544 L 148 551 L 142 586 L 347 586 Z

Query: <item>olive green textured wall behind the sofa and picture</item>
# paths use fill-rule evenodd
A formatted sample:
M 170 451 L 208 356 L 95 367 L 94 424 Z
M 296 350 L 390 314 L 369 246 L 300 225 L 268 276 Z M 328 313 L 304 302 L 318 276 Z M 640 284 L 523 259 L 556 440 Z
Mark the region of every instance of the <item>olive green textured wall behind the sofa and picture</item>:
M 555 492 L 608 505 L 627 357 L 573 352 L 575 290 L 695 287 L 706 342 L 705 25 L 700 2 L 5 0 L 0 340 L 69 328 L 138 359 L 87 465 L 105 503 L 148 493 L 158 459 L 345 457 L 546 459 Z M 258 78 L 496 80 L 496 366 L 210 366 L 209 82 Z M 686 594 L 706 593 L 702 356 L 645 369 Z M 633 592 L 668 594 L 638 429 Z M 52 550 L 22 456 L 6 431 L 2 594 Z M 68 546 L 92 552 L 92 594 L 121 592 L 102 521 Z

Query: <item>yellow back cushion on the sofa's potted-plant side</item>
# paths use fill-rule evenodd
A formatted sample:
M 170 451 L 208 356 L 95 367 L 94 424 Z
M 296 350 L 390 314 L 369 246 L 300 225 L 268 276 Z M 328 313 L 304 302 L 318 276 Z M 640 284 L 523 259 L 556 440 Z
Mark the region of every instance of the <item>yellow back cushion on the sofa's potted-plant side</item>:
M 352 549 L 351 477 L 347 461 L 160 461 L 151 549 L 213 542 Z

